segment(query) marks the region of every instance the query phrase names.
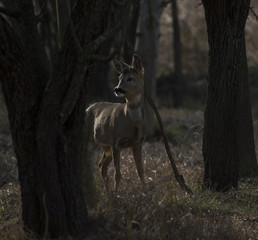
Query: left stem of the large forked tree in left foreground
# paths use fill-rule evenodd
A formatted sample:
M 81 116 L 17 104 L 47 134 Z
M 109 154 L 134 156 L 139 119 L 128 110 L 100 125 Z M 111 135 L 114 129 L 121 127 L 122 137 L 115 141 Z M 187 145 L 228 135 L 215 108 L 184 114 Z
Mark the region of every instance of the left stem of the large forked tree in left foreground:
M 49 78 L 48 64 L 37 34 L 31 1 L 7 1 L 14 11 L 23 9 L 13 29 L 2 20 L 1 84 L 7 104 L 10 128 L 18 160 L 23 205 L 23 222 L 37 228 L 39 199 L 36 185 L 36 124 L 39 102 Z M 28 34 L 29 33 L 29 34 Z

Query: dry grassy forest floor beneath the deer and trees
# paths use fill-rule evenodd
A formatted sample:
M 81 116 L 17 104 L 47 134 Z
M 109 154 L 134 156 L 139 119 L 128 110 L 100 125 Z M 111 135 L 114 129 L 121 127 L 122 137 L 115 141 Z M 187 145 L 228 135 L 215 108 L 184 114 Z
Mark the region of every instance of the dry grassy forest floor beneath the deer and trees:
M 258 239 L 258 178 L 240 180 L 238 190 L 226 193 L 202 190 L 202 112 L 161 114 L 179 172 L 194 194 L 177 184 L 161 139 L 150 138 L 143 146 L 147 192 L 141 189 L 130 150 L 121 154 L 117 194 L 106 194 L 96 171 L 99 202 L 89 213 L 88 239 Z M 258 122 L 255 130 L 258 145 Z M 111 166 L 111 179 L 113 170 Z M 0 132 L 0 239 L 33 239 L 22 230 L 16 158 L 8 131 Z

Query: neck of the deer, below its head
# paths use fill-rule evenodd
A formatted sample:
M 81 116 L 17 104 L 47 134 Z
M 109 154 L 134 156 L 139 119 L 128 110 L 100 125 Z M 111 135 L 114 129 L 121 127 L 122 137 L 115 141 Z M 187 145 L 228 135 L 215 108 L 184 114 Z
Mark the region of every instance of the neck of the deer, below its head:
M 144 108 L 143 97 L 141 95 L 138 95 L 130 100 L 126 99 L 125 114 L 134 122 L 139 122 L 143 120 Z

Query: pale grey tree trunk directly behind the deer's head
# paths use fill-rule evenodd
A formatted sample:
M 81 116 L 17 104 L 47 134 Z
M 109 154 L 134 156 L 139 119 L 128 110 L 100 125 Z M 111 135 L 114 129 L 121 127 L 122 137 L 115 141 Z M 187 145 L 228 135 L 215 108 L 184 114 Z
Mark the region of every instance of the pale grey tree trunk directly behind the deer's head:
M 156 98 L 156 65 L 158 57 L 160 16 L 162 0 L 141 0 L 140 16 L 138 19 L 135 51 L 144 66 L 144 84 L 151 96 Z M 154 125 L 153 110 L 145 99 L 147 132 L 152 133 Z

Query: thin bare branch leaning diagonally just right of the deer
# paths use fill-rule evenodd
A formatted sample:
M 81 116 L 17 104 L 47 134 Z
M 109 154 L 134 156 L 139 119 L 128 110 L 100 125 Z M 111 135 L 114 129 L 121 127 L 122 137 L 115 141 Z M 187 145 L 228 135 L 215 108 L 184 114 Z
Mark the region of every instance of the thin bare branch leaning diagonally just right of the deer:
M 167 155 L 168 155 L 168 158 L 169 158 L 169 161 L 171 163 L 171 167 L 173 169 L 173 172 L 174 172 L 174 175 L 175 175 L 175 178 L 177 180 L 177 182 L 179 183 L 179 185 L 189 194 L 192 194 L 192 190 L 186 185 L 185 183 L 185 180 L 183 178 L 182 175 L 179 174 L 178 172 L 178 169 L 177 169 L 177 166 L 176 166 L 176 163 L 175 163 L 175 159 L 173 158 L 172 156 L 172 153 L 170 151 L 170 148 L 169 148 L 169 145 L 168 145 L 168 140 L 167 140 L 167 137 L 166 137 L 166 134 L 164 132 L 164 127 L 163 127 L 163 124 L 162 124 L 162 120 L 161 120 L 161 117 L 159 115 L 159 112 L 158 112 L 158 109 L 152 99 L 152 97 L 150 96 L 149 92 L 146 90 L 146 88 L 144 89 L 144 93 L 145 93 L 145 96 L 149 102 L 149 104 L 151 105 L 153 111 L 155 112 L 155 115 L 156 115 L 156 118 L 158 120 L 158 123 L 159 123 L 159 127 L 160 127 L 160 130 L 161 130 L 161 134 L 163 136 L 163 139 L 164 139 L 164 144 L 165 144 L 165 148 L 166 148 L 166 152 L 167 152 Z

